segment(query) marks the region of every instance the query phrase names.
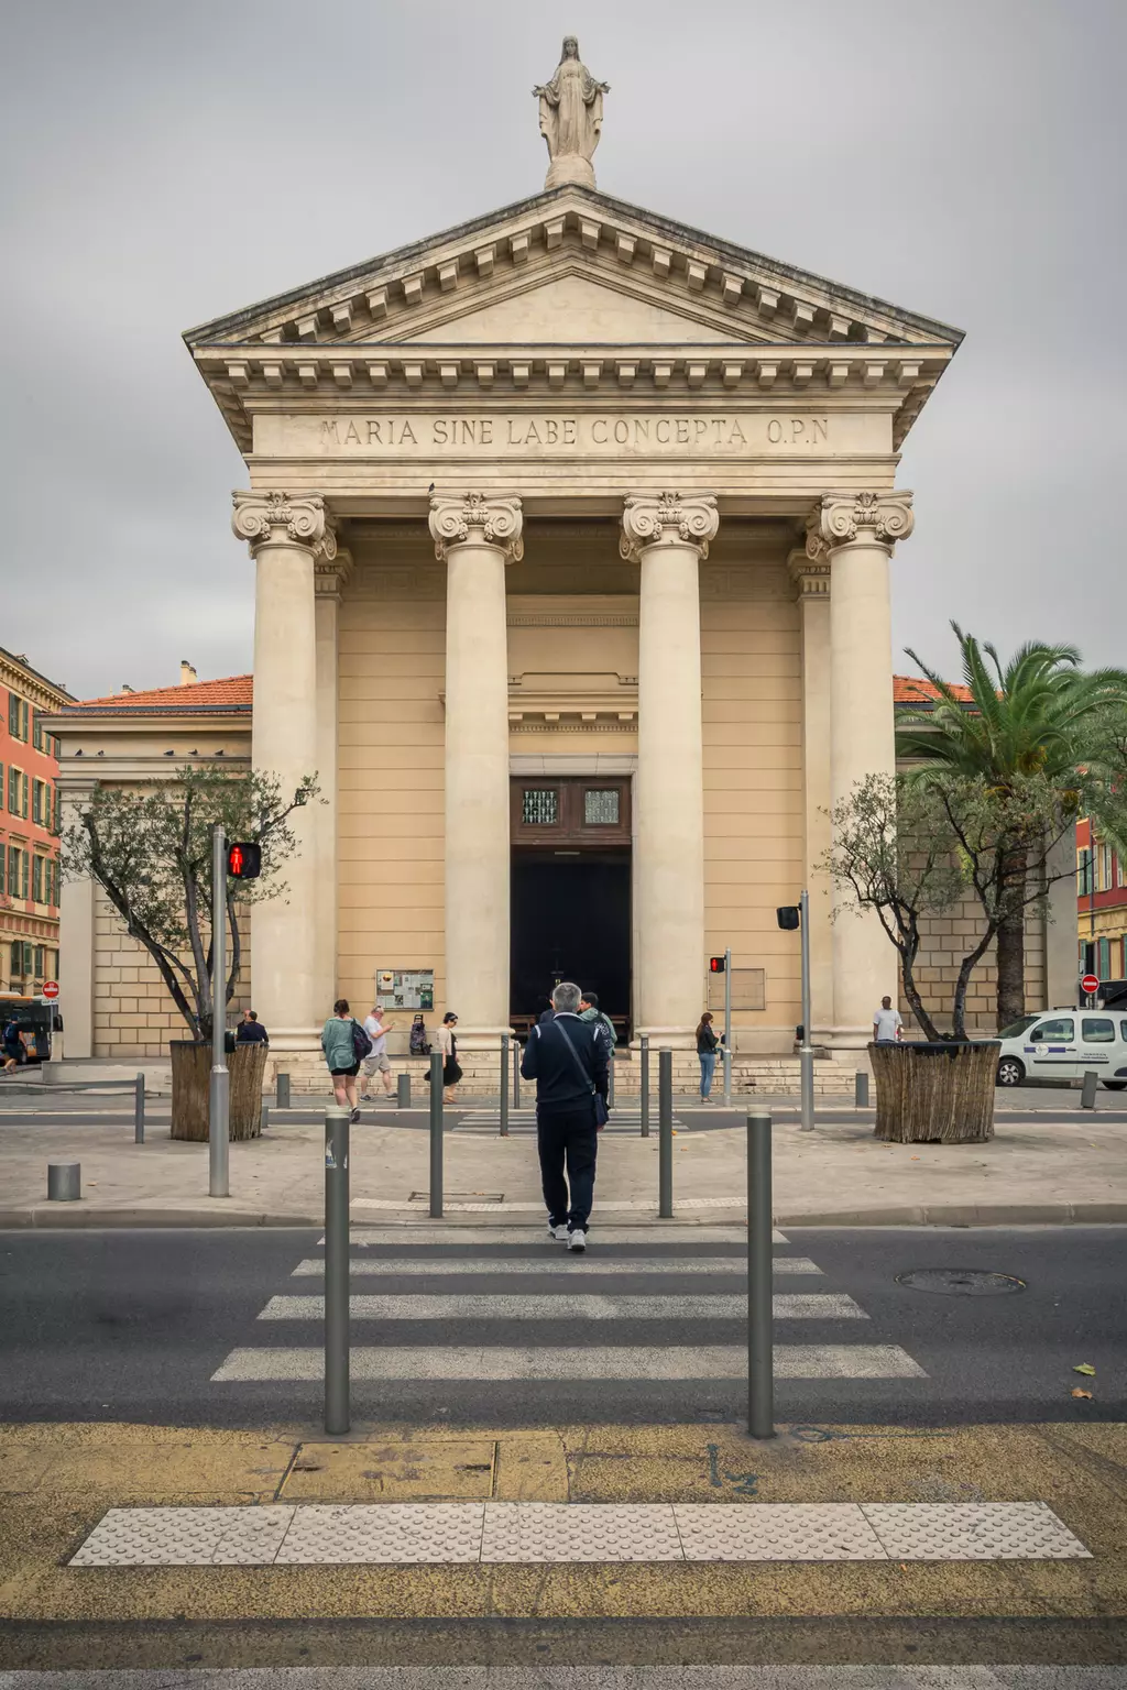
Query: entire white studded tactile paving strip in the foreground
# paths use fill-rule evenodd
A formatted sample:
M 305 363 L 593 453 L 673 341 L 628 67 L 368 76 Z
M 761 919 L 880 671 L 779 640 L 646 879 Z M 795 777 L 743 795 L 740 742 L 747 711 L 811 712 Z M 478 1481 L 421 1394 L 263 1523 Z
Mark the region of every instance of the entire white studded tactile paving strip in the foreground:
M 1090 1560 L 1048 1502 L 112 1507 L 71 1567 Z

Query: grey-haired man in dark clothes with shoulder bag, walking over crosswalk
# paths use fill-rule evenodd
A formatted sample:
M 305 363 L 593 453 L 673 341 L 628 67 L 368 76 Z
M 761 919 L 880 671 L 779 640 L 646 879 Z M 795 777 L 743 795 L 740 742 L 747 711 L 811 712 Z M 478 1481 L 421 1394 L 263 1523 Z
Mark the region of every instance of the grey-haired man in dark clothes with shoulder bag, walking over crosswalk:
M 551 1021 L 532 1028 L 520 1073 L 536 1080 L 547 1234 L 585 1251 L 598 1151 L 595 1098 L 607 1100 L 607 1038 L 598 1022 L 580 1021 L 580 987 L 569 980 L 553 992 L 553 1011 Z

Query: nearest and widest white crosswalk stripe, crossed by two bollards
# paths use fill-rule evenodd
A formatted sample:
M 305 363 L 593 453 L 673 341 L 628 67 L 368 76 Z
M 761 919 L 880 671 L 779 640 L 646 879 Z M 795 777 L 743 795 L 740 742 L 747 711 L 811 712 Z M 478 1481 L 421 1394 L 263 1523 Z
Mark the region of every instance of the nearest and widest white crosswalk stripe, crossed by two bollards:
M 742 1344 L 659 1349 L 515 1349 L 505 1345 L 370 1347 L 351 1350 L 353 1379 L 747 1379 Z M 324 1350 L 231 1350 L 211 1374 L 215 1384 L 265 1379 L 319 1381 Z M 926 1379 L 924 1369 L 899 1344 L 777 1344 L 776 1379 Z

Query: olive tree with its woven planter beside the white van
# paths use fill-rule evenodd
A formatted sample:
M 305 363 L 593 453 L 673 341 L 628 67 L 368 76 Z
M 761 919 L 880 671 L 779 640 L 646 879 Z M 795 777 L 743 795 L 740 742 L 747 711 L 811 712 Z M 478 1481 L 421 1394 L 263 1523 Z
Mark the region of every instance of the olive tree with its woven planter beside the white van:
M 1061 794 L 1036 774 L 999 788 L 929 769 L 926 777 L 870 776 L 833 810 L 825 867 L 847 894 L 835 919 L 848 909 L 877 913 L 926 1034 L 923 1044 L 870 1044 L 879 1137 L 958 1142 L 994 1134 L 997 1041 L 968 1039 L 966 989 L 1002 926 L 1024 919 L 1026 908 L 1061 879 L 1049 870 L 1049 855 L 1075 825 L 1078 801 L 1080 791 Z M 955 979 L 951 1033 L 943 1034 L 916 982 L 921 923 L 965 906 L 968 896 L 978 902 L 980 924 Z

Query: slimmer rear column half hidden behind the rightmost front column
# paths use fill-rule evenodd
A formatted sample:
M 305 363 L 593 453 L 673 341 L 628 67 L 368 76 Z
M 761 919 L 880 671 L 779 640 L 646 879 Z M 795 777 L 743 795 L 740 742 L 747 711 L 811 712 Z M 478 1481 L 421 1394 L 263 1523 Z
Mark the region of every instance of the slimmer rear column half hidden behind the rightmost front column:
M 809 891 L 809 1002 L 814 1041 L 833 1026 L 833 882 L 830 850 L 830 564 L 808 549 L 787 558 L 798 588 L 803 662 L 803 865 Z M 796 1021 L 799 1017 L 796 1016 Z

